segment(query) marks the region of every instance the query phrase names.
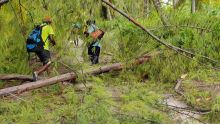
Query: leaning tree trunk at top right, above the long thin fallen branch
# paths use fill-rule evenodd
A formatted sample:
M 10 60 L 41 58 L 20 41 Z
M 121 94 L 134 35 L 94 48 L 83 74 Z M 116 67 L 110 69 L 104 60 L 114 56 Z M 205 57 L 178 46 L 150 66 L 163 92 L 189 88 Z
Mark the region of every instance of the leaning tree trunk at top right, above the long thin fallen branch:
M 158 15 L 160 16 L 160 19 L 161 19 L 163 25 L 164 26 L 170 25 L 166 15 L 163 13 L 163 11 L 161 9 L 160 0 L 152 0 L 152 2 L 154 4 L 155 9 L 157 10 Z

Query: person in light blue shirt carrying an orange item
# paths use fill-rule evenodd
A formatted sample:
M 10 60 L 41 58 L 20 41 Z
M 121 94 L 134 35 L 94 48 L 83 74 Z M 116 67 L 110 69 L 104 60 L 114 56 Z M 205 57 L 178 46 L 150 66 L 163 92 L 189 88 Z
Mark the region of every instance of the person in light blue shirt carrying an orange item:
M 93 41 L 89 43 L 88 45 L 88 55 L 90 57 L 90 60 L 92 64 L 98 64 L 99 63 L 99 54 L 101 49 L 100 41 L 102 37 L 104 36 L 104 32 L 101 31 L 96 25 L 95 21 L 88 20 L 86 22 L 88 29 L 84 34 L 88 36 L 92 36 Z

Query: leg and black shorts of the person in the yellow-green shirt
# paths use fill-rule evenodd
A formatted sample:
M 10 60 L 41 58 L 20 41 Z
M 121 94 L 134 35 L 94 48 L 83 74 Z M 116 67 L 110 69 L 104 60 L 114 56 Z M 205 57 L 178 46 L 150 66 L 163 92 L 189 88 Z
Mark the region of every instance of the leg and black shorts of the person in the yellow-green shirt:
M 38 75 L 46 71 L 51 64 L 50 52 L 48 50 L 42 50 L 38 52 L 37 55 L 40 58 L 41 62 L 43 63 L 43 66 L 33 73 L 33 77 L 35 81 L 37 80 Z

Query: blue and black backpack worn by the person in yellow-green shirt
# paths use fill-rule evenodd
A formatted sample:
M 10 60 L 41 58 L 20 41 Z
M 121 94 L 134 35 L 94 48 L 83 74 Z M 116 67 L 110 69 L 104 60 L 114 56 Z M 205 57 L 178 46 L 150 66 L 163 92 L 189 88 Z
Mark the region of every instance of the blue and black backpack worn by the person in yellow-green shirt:
M 43 50 L 44 49 L 44 42 L 41 37 L 42 34 L 42 28 L 45 25 L 37 25 L 30 35 L 27 38 L 26 41 L 26 48 L 28 52 L 36 52 L 37 50 Z

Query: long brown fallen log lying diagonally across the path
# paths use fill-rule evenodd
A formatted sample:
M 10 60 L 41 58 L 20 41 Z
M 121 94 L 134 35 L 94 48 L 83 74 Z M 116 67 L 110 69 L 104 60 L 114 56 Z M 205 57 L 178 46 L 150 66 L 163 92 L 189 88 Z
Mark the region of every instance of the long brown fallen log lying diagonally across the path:
M 146 55 L 144 57 L 137 58 L 137 59 L 133 60 L 132 64 L 133 65 L 143 64 L 144 62 L 149 61 L 150 58 L 151 58 L 150 56 Z M 109 65 L 109 66 L 100 67 L 100 68 L 97 68 L 97 69 L 92 70 L 92 71 L 88 71 L 85 74 L 95 76 L 95 75 L 99 75 L 99 74 L 106 73 L 106 72 L 119 71 L 119 70 L 122 70 L 123 67 L 124 67 L 124 64 L 116 63 L 116 64 L 112 64 L 112 65 Z M 67 74 L 63 74 L 63 75 L 52 77 L 52 78 L 45 79 L 45 80 L 39 80 L 39 81 L 36 81 L 36 82 L 31 82 L 31 83 L 22 84 L 22 85 L 19 85 L 19 86 L 14 86 L 14 87 L 1 89 L 0 90 L 0 96 L 8 96 L 8 95 L 14 94 L 14 93 L 19 94 L 21 92 L 41 88 L 41 87 L 44 87 L 44 86 L 49 86 L 49 85 L 52 85 L 52 84 L 56 84 L 58 82 L 68 81 L 68 80 L 75 80 L 76 78 L 77 78 L 77 75 L 74 72 L 67 73 Z

